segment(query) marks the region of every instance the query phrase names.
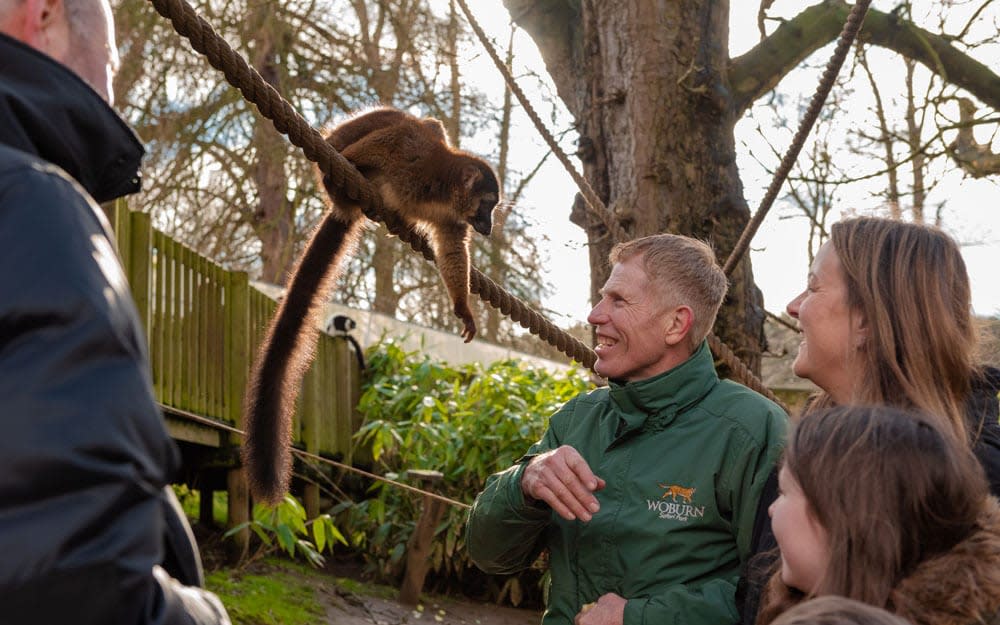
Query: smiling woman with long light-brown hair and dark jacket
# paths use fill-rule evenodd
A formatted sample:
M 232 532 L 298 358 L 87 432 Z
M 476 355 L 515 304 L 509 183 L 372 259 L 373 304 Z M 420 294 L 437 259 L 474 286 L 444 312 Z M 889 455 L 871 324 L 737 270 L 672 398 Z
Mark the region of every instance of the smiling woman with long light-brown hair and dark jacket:
M 931 415 L 970 445 L 990 492 L 1000 496 L 1000 371 L 976 362 L 969 276 L 951 237 L 892 219 L 840 221 L 816 255 L 806 290 L 787 310 L 802 329 L 795 374 L 821 389 L 803 418 L 857 404 Z M 756 553 L 774 546 L 765 508 L 773 498 L 766 488 Z M 745 624 L 754 622 L 767 560 L 758 558 L 741 586 Z

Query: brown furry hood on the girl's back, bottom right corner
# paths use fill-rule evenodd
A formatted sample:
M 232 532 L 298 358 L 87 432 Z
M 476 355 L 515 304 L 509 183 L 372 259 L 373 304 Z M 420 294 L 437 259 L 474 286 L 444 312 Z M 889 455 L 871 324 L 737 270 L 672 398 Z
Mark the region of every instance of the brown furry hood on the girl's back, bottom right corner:
M 993 623 L 1000 610 L 1000 504 L 990 497 L 971 536 L 926 560 L 890 599 L 915 625 Z

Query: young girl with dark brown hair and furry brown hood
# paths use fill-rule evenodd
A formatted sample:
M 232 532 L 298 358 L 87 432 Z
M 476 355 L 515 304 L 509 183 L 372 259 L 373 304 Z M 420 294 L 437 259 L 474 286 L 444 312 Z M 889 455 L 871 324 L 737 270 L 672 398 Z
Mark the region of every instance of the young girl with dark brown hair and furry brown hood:
M 1000 505 L 952 433 L 890 407 L 819 411 L 790 434 L 778 482 L 758 625 L 821 595 L 919 625 L 1000 616 Z

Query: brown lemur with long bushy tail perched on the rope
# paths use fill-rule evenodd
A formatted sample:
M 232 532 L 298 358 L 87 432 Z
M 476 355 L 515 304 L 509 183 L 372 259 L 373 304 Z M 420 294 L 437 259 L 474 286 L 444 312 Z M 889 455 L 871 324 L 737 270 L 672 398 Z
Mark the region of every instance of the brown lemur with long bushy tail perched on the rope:
M 438 271 L 463 322 L 466 343 L 476 334 L 469 308 L 470 228 L 489 236 L 500 185 L 483 159 L 453 148 L 444 126 L 393 108 L 348 119 L 324 137 L 382 196 L 404 223 L 425 233 Z M 276 504 L 291 475 L 292 412 L 313 360 L 322 303 L 365 222 L 360 206 L 320 176 L 327 211 L 289 278 L 258 350 L 244 399 L 243 462 L 253 495 Z

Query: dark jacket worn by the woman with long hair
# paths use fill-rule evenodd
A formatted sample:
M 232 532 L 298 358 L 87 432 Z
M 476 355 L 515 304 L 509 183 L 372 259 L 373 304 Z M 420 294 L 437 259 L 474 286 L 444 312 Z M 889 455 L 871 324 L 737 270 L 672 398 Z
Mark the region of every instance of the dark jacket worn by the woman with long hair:
M 990 493 L 1000 498 L 1000 369 L 983 367 L 972 375 L 972 391 L 965 402 L 966 427 L 973 441 L 972 451 L 983 465 Z M 757 617 L 761 592 L 771 565 L 778 557 L 778 543 L 771 530 L 767 508 L 778 497 L 778 469 L 768 478 L 757 509 L 748 571 L 740 578 L 736 604 L 741 625 L 752 625 Z

